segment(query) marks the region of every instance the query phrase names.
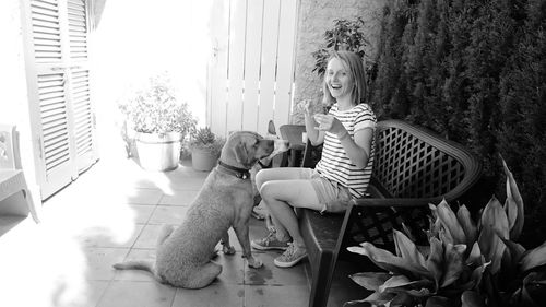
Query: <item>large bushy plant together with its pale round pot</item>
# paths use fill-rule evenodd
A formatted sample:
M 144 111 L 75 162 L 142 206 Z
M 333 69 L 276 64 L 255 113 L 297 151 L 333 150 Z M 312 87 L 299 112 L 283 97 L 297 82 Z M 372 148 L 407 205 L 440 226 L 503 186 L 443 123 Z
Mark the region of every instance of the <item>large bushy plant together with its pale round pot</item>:
M 119 105 L 127 130 L 134 132 L 139 164 L 147 170 L 178 167 L 181 142 L 197 120 L 185 102 L 176 98 L 169 79 L 162 74 Z

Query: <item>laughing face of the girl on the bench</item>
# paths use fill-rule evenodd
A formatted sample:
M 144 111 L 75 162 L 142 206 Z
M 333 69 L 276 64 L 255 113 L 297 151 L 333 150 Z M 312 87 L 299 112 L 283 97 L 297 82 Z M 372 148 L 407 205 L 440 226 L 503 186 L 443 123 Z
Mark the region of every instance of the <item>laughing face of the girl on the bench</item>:
M 339 58 L 332 58 L 328 62 L 324 82 L 332 97 L 340 99 L 351 99 L 351 94 L 355 82 L 348 67 Z

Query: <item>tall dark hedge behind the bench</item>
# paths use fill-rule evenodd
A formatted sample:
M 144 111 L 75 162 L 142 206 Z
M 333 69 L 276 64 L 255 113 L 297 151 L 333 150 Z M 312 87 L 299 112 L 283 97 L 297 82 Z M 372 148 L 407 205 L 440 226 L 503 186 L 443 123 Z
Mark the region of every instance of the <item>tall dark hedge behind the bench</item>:
M 546 2 L 392 0 L 379 37 L 370 81 L 378 117 L 470 147 L 496 193 L 502 152 L 529 206 L 522 239 L 538 245 L 546 233 Z

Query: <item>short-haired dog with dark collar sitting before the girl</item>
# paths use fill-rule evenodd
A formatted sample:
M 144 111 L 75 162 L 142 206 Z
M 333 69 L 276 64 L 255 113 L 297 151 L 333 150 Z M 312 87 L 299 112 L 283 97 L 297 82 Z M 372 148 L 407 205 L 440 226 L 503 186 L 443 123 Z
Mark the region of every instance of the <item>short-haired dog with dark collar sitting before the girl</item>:
M 224 253 L 235 253 L 229 245 L 229 227 L 235 229 L 248 265 L 260 268 L 262 262 L 252 256 L 248 235 L 253 206 L 249 169 L 260 158 L 274 153 L 275 147 L 287 150 L 288 144 L 249 131 L 232 133 L 222 149 L 218 165 L 206 177 L 182 224 L 177 229 L 163 228 L 155 264 L 128 261 L 114 268 L 146 270 L 159 282 L 178 287 L 204 287 L 222 272 L 222 265 L 211 261 L 218 241 Z

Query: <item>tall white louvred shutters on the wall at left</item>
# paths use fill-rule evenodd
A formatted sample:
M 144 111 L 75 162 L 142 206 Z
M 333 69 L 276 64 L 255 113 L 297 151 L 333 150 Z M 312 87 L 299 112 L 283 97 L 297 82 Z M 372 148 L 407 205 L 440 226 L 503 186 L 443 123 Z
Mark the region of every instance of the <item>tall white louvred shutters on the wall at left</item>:
M 22 0 L 36 178 L 46 199 L 97 160 L 86 0 Z

